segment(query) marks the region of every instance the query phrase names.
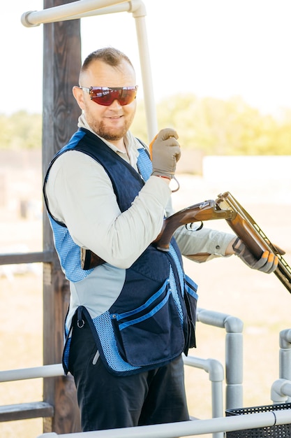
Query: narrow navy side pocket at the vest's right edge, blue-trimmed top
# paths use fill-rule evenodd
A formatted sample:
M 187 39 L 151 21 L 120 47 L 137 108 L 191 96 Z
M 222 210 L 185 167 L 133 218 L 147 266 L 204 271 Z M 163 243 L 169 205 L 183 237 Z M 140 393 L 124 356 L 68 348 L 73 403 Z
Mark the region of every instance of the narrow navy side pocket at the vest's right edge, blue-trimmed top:
M 190 277 L 185 275 L 185 291 L 184 302 L 187 310 L 187 335 L 184 353 L 188 354 L 188 349 L 196 346 L 195 339 L 195 325 L 196 325 L 196 311 L 197 311 L 197 285 Z

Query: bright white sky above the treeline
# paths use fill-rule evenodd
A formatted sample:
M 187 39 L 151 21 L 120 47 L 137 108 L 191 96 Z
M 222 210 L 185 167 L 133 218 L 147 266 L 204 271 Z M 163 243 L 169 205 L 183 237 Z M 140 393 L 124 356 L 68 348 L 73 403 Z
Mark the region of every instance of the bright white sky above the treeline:
M 290 0 L 144 0 L 155 99 L 178 92 L 241 96 L 264 112 L 291 108 Z M 1 11 L 0 113 L 42 111 L 43 25 L 20 22 L 40 0 Z M 82 57 L 112 45 L 126 52 L 142 85 L 131 13 L 82 19 Z M 142 94 L 142 92 L 140 93 Z

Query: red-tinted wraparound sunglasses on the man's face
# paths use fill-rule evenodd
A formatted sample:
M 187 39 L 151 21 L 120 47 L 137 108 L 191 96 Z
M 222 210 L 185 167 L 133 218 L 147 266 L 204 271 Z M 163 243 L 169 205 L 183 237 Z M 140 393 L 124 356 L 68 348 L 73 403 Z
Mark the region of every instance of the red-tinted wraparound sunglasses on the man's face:
M 118 100 L 121 106 L 131 104 L 137 94 L 135 87 L 79 87 L 90 94 L 90 99 L 98 105 L 110 106 Z

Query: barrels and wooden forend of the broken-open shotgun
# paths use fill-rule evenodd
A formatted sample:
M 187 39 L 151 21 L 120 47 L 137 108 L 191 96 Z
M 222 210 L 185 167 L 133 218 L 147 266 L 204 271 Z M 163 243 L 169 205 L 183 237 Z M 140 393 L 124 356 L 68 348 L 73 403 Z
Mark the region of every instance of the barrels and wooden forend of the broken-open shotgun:
M 291 293 L 291 267 L 283 259 L 281 250 L 271 243 L 255 220 L 253 220 L 239 202 L 234 199 L 230 192 L 218 195 L 216 204 L 221 206 L 222 209 L 231 209 L 234 211 L 234 216 L 227 218 L 227 224 L 230 225 L 234 233 L 239 236 L 255 257 L 259 259 L 265 250 L 278 256 L 278 267 L 274 271 L 274 274 L 276 274 L 281 283 L 283 283 L 285 288 Z

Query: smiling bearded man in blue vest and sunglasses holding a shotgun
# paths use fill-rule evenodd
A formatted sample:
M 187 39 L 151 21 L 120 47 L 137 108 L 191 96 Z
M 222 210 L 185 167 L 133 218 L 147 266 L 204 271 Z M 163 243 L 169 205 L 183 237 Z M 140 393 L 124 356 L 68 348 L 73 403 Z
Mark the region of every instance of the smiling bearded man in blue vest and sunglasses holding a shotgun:
M 70 281 L 63 362 L 75 379 L 82 429 L 186 421 L 181 353 L 195 346 L 197 286 L 184 274 L 181 253 L 204 262 L 236 252 L 265 272 L 278 260 L 269 253 L 255 260 L 236 236 L 204 228 L 181 227 L 169 253 L 157 250 L 151 242 L 172 213 L 177 132 L 162 129 L 149 160 L 129 131 L 135 71 L 114 48 L 85 59 L 73 94 L 79 129 L 52 160 L 44 194 Z M 101 263 L 82 269 L 81 248 Z

